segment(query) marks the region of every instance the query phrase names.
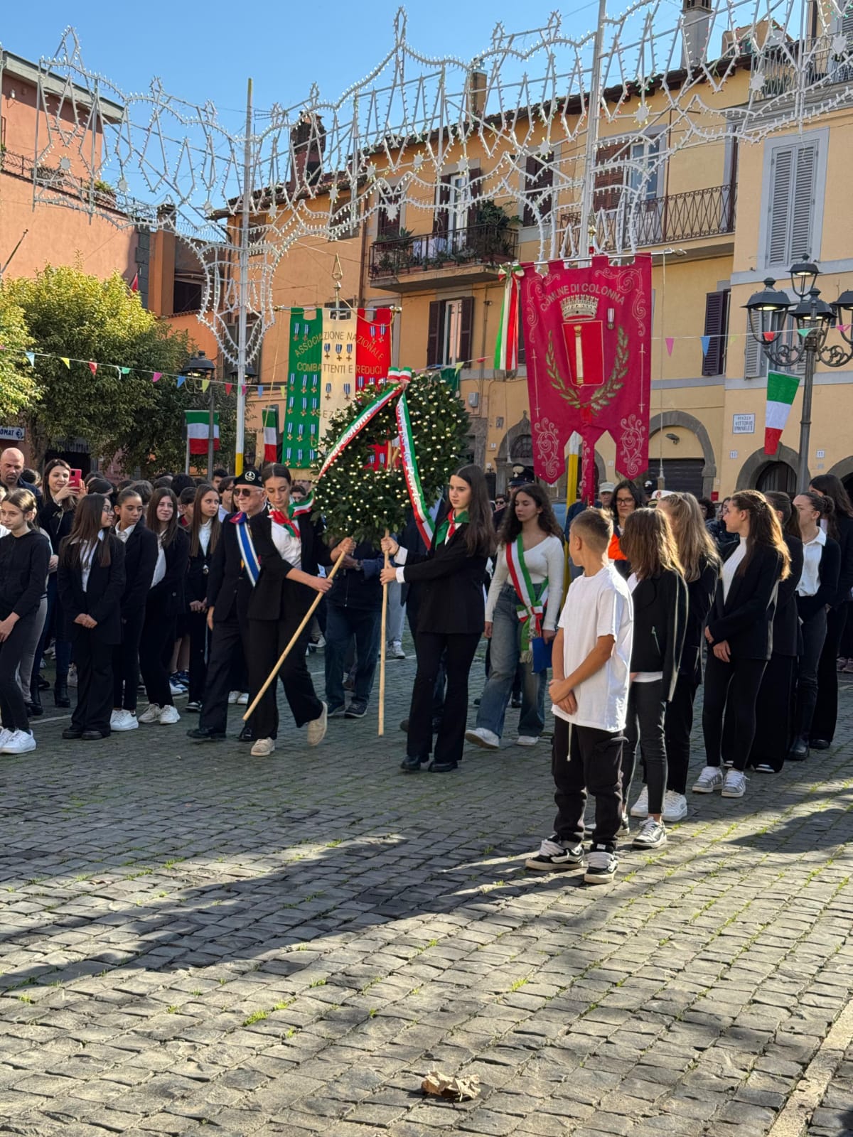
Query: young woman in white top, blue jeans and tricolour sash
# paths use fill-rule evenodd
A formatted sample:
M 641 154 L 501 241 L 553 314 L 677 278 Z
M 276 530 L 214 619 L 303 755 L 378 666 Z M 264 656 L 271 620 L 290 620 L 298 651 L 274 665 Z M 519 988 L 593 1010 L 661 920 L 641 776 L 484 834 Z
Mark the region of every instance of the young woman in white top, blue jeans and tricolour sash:
M 495 575 L 486 600 L 491 671 L 469 742 L 496 750 L 519 663 L 523 666 L 519 746 L 533 746 L 545 728 L 547 666 L 533 671 L 533 644 L 556 636 L 563 597 L 562 531 L 541 485 L 521 485 L 498 533 Z

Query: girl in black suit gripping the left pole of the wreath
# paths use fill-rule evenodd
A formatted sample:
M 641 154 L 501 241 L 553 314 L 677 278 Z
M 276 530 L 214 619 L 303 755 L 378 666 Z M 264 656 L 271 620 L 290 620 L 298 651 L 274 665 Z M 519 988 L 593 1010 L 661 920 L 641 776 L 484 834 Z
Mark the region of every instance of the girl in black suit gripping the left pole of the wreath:
M 256 514 L 249 522 L 251 541 L 260 562 L 260 574 L 249 597 L 250 700 L 290 642 L 314 595 L 328 592 L 334 586 L 334 581 L 318 575 L 318 565 L 329 567 L 338 557 L 355 549 L 355 542 L 345 538 L 330 553 L 308 513 L 291 515 L 292 480 L 287 466 L 266 466 L 262 478 L 270 509 Z M 317 698 L 305 663 L 308 636 L 306 626 L 279 677 L 297 727 L 307 723 L 308 745 L 316 746 L 325 736 L 328 707 Z M 276 687 L 278 680 L 270 684 L 250 720 L 256 739 L 251 753 L 256 757 L 266 757 L 275 749 Z

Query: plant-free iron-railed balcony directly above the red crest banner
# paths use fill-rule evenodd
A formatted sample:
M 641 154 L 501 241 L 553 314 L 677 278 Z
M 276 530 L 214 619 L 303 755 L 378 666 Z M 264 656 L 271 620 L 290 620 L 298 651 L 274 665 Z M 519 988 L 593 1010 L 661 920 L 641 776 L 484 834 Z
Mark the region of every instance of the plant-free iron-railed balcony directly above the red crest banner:
M 612 205 L 612 200 L 607 204 Z M 615 207 L 598 207 L 596 202 L 597 246 L 603 252 L 628 252 L 654 244 L 723 236 L 735 232 L 736 204 L 735 185 L 635 199 L 630 205 L 627 194 L 622 193 Z M 569 230 L 565 248 L 575 255 L 579 225 L 578 210 L 561 217 L 561 229 Z M 714 242 L 714 248 L 719 247 L 720 242 Z

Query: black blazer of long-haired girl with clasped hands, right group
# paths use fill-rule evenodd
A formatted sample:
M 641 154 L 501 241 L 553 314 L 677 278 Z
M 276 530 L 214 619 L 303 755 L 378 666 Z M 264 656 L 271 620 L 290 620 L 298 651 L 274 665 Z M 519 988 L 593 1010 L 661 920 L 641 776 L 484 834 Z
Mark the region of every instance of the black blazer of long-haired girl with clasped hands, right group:
M 738 545 L 722 550 L 723 563 Z M 743 565 L 740 565 L 743 570 Z M 707 621 L 711 642 L 728 640 L 731 656 L 740 659 L 769 659 L 773 649 L 773 616 L 781 573 L 781 557 L 768 545 L 756 545 L 745 571 L 731 582 L 723 600 L 722 576 Z

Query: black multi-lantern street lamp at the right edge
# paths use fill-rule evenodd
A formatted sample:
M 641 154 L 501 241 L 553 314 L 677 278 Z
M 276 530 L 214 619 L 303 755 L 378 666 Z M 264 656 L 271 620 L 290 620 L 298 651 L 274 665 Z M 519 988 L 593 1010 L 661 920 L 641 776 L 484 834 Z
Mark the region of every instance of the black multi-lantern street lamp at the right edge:
M 842 292 L 835 304 L 820 299 L 820 289 L 815 287 L 820 269 L 814 262 L 803 257 L 790 269 L 790 287 L 800 302 L 793 305 L 785 292 L 776 288 L 776 281 L 768 276 L 764 288 L 753 293 L 744 305 L 750 314 L 750 332 L 761 349 L 777 367 L 788 370 L 805 360 L 803 376 L 803 409 L 800 417 L 800 460 L 797 465 L 797 488 L 802 491 L 809 488 L 809 435 L 812 425 L 812 388 L 814 385 L 814 367 L 820 359 L 827 367 L 844 367 L 853 359 L 853 292 Z M 850 319 L 844 325 L 844 313 Z M 788 316 L 794 318 L 798 332 L 798 342 L 785 343 L 781 333 Z M 827 332 L 836 323 L 842 324 L 839 331 L 847 348 L 838 343 L 826 346 Z

